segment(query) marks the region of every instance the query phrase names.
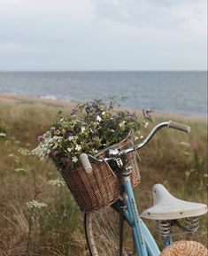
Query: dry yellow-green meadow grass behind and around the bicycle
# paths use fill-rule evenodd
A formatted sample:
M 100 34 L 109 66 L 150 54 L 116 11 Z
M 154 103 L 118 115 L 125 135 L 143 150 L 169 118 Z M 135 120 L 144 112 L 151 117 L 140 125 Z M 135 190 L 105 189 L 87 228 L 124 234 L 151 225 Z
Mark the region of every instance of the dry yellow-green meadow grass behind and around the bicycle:
M 37 136 L 56 119 L 58 105 L 0 103 L 0 255 L 79 256 L 88 255 L 82 213 L 72 195 L 61 184 L 49 161 L 19 153 L 33 149 Z M 166 118 L 165 118 L 166 119 Z M 155 123 L 164 120 L 156 118 Z M 177 121 L 184 122 L 182 118 Z M 188 120 L 190 135 L 163 129 L 141 152 L 142 182 L 135 189 L 140 211 L 151 206 L 151 188 L 160 182 L 179 198 L 206 203 L 207 132 L 204 121 Z M 153 125 L 152 125 L 153 126 Z M 151 128 L 151 126 L 150 126 Z M 143 130 L 143 135 L 148 130 Z M 55 182 L 56 183 L 56 182 Z M 28 207 L 37 201 L 47 205 Z M 206 244 L 206 218 L 194 237 Z M 150 229 L 154 223 L 147 222 Z M 154 232 L 154 231 L 153 231 Z

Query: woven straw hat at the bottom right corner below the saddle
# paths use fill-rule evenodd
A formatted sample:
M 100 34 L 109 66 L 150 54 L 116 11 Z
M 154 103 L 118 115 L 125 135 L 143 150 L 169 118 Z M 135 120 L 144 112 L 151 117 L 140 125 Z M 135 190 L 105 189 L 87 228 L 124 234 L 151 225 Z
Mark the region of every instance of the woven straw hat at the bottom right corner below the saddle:
M 208 250 L 195 241 L 178 241 L 166 247 L 160 256 L 208 256 Z

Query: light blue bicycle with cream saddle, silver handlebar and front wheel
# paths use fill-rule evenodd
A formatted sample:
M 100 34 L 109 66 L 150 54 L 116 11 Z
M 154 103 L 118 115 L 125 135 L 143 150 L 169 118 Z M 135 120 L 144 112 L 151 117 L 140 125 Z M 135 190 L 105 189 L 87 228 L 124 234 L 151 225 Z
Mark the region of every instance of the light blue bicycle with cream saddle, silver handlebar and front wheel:
M 194 247 L 188 248 L 188 246 L 188 254 L 185 254 L 186 250 L 182 252 L 182 254 L 168 254 L 178 245 L 178 247 L 184 247 L 184 244 L 187 243 L 189 245 L 192 243 L 173 243 L 172 229 L 176 226 L 185 232 L 196 232 L 199 226 L 198 216 L 207 213 L 207 206 L 174 198 L 163 185 L 156 184 L 153 187 L 154 206 L 139 215 L 129 179 L 132 167 L 129 167 L 125 161 L 127 154 L 143 148 L 144 145 L 148 144 L 156 132 L 158 132 L 160 128 L 164 127 L 175 128 L 187 133 L 190 131 L 190 128 L 186 125 L 173 121 L 165 121 L 159 123 L 155 128 L 153 128 L 142 143 L 121 151 L 112 147 L 109 149 L 104 159 L 99 159 L 85 153 L 81 154 L 81 163 L 86 172 L 92 171 L 89 159 L 92 161 L 104 161 L 107 163 L 111 163 L 113 161 L 116 163 L 117 167 L 119 167 L 119 172 L 123 181 L 123 189 L 119 200 L 112 204 L 111 207 L 104 208 L 104 210 L 95 213 L 92 212 L 84 214 L 85 234 L 91 256 L 182 256 L 190 255 L 190 252 L 188 252 L 189 250 L 193 252 Z M 142 221 L 141 217 L 157 221 L 158 234 L 160 237 L 163 237 L 165 251 L 160 252 L 158 244 L 151 235 L 150 230 Z M 181 219 L 185 219 L 184 226 L 182 226 L 179 221 Z M 115 225 L 119 226 L 118 230 L 115 229 Z M 126 227 L 127 230 L 125 229 Z M 124 230 L 126 230 L 125 233 Z M 203 248 L 201 249 L 201 252 L 204 254 L 200 255 L 207 255 L 207 250 L 203 245 L 196 244 L 193 246 L 201 246 L 200 248 Z

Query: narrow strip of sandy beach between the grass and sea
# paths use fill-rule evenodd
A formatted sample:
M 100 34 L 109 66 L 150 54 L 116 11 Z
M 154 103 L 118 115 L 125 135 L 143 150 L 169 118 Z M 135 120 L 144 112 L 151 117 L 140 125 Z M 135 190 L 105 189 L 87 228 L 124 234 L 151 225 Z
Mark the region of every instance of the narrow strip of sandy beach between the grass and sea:
M 0 103 L 31 103 L 31 104 L 40 104 L 40 105 L 54 105 L 54 106 L 62 106 L 62 107 L 69 107 L 73 108 L 77 105 L 77 102 L 70 102 L 62 99 L 53 99 L 53 98 L 42 98 L 42 97 L 32 97 L 32 96 L 25 96 L 19 94 L 13 94 L 8 92 L 1 92 L 0 91 Z M 142 113 L 141 109 L 128 109 L 130 112 L 136 112 L 138 114 Z M 168 113 L 168 112 L 153 112 L 153 116 L 155 118 L 167 118 L 167 119 L 180 119 L 180 120 L 196 120 L 201 122 L 207 122 L 206 117 L 201 116 L 192 116 L 192 115 L 185 115 L 180 113 Z

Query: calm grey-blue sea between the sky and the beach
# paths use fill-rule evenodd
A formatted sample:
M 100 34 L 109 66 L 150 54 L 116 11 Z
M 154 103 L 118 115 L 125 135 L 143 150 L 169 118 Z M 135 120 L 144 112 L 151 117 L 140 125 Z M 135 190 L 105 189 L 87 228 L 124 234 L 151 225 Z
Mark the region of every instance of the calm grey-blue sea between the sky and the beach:
M 0 92 L 73 102 L 127 97 L 129 108 L 207 117 L 206 71 L 0 72 Z

